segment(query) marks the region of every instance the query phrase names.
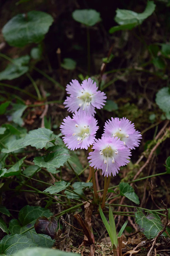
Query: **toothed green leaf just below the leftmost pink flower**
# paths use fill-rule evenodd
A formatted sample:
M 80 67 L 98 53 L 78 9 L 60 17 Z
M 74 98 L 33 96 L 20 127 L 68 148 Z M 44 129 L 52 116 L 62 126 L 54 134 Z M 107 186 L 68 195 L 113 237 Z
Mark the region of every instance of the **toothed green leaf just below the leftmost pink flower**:
M 68 150 L 61 146 L 53 146 L 50 151 L 47 155 L 34 158 L 34 164 L 45 168 L 59 168 L 70 158 Z

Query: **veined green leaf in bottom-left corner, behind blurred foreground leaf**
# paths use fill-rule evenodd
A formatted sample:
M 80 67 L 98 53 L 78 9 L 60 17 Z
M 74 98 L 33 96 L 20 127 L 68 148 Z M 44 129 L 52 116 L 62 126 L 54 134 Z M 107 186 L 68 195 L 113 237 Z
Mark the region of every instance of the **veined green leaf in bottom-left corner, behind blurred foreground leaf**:
M 18 251 L 27 247 L 33 247 L 35 244 L 31 239 L 28 239 L 26 235 L 6 235 L 2 238 L 1 242 L 1 253 L 5 255 L 13 255 Z

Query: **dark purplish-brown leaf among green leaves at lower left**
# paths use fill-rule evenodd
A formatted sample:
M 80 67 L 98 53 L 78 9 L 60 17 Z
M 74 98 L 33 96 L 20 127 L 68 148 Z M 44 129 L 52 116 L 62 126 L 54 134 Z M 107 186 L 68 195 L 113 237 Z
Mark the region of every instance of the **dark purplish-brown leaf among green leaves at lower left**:
M 51 217 L 51 220 L 45 216 L 39 217 L 34 224 L 37 234 L 49 235 L 52 239 L 55 238 L 57 227 L 58 222 L 54 216 Z

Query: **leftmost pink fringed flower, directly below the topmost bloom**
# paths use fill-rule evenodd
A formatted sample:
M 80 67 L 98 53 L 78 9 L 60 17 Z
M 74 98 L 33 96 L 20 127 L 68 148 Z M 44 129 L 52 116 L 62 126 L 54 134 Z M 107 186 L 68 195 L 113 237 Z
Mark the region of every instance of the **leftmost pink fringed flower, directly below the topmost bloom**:
M 75 111 L 73 118 L 66 117 L 60 126 L 63 140 L 69 149 L 88 149 L 94 143 L 98 130 L 96 119 L 85 111 Z

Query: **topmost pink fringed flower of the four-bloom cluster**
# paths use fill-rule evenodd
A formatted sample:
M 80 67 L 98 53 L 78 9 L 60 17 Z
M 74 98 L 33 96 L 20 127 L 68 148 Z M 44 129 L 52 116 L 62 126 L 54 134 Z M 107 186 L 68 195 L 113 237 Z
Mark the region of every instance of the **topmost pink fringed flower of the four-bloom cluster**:
M 66 105 L 65 107 L 68 108 L 69 112 L 73 113 L 80 109 L 94 116 L 96 113 L 95 107 L 98 109 L 103 108 L 107 98 L 105 96 L 106 94 L 97 91 L 96 82 L 93 82 L 89 78 L 88 80 L 84 80 L 81 85 L 77 80 L 72 80 L 70 85 L 67 85 L 66 91 L 70 96 L 66 98 L 64 105 Z

